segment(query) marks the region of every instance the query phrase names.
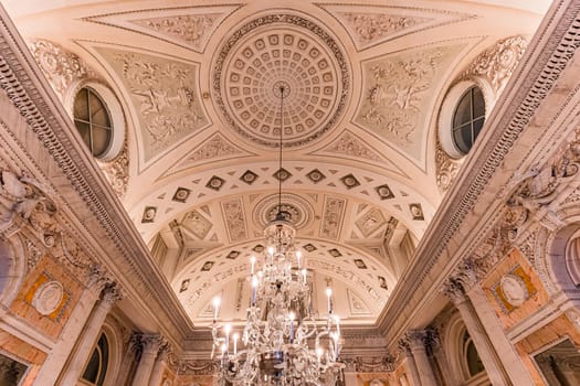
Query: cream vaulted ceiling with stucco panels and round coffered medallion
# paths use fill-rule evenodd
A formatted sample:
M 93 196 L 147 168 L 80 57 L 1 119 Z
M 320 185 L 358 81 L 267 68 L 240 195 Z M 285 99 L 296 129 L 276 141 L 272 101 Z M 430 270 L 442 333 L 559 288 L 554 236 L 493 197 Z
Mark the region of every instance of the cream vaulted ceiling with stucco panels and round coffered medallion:
M 547 6 L 4 2 L 71 114 L 85 85 L 119 105 L 99 164 L 197 325 L 215 294 L 244 319 L 281 181 L 315 308 L 331 286 L 373 323 L 461 164 L 437 144 L 447 90 L 475 74 L 491 109 Z

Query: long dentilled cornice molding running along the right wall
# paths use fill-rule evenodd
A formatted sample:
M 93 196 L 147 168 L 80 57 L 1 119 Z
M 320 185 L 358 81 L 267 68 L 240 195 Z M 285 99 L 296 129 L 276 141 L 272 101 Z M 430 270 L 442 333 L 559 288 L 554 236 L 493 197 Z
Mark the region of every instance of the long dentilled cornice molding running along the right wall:
M 444 274 L 443 271 L 450 272 L 463 256 L 470 254 L 470 248 L 476 248 L 478 240 L 475 238 L 482 238 L 488 234 L 488 229 L 499 217 L 498 207 L 504 201 L 502 190 L 497 193 L 495 187 L 491 187 L 489 182 L 494 181 L 494 186 L 509 184 L 509 180 L 517 176 L 517 173 L 510 174 L 510 172 L 529 163 L 530 158 L 534 157 L 531 152 L 537 146 L 532 144 L 529 147 L 531 150 L 518 158 L 519 164 L 509 165 L 508 170 L 500 167 L 509 151 L 517 144 L 521 132 L 526 129 L 531 132 L 532 128 L 528 127 L 531 118 L 542 101 L 550 97 L 550 92 L 573 57 L 576 49 L 580 46 L 579 13 L 579 0 L 562 0 L 553 3 L 534 40 L 528 45 L 528 50 L 520 62 L 519 71 L 514 74 L 498 99 L 497 106 L 500 107 L 493 111 L 486 122 L 487 127 L 493 127 L 494 130 L 484 130 L 483 137 L 485 139 L 478 141 L 472 149 L 466 164 L 462 169 L 464 172 L 460 172 L 457 175 L 456 183 L 443 200 L 431 226 L 421 240 L 414 264 L 405 270 L 400 280 L 401 283 L 405 285 L 397 287 L 379 317 L 378 325 L 387 334 L 390 346 L 397 344 L 397 339 L 412 322 L 413 318 L 409 318 L 410 313 L 405 309 L 411 307 L 420 310 L 425 301 L 432 299 L 431 297 L 424 298 L 420 304 L 413 301 L 415 293 L 418 296 L 426 293 L 419 290 L 420 286 L 429 290 L 429 288 L 434 289 L 440 285 L 429 279 L 435 275 L 431 272 L 432 269 L 437 266 L 437 269 L 442 270 L 441 274 Z M 565 103 L 559 103 L 559 110 L 553 112 L 550 121 L 545 124 L 546 127 L 553 124 L 569 101 L 570 96 Z M 536 144 L 546 140 L 545 136 L 553 135 L 552 132 L 547 133 L 547 131 L 531 135 Z M 483 200 L 482 194 L 484 192 L 492 194 L 492 203 L 488 202 L 489 197 L 486 199 L 486 203 L 479 202 Z M 471 216 L 475 216 L 472 210 L 477 204 L 485 204 L 489 215 L 485 218 L 472 218 Z M 472 219 L 467 237 L 465 234 L 460 234 L 462 224 L 465 224 L 466 218 Z M 475 226 L 473 222 L 476 223 Z M 442 265 L 442 259 L 447 262 Z M 441 280 L 444 276 L 440 275 Z M 405 320 L 402 320 L 402 317 L 386 318 L 387 314 L 404 315 Z

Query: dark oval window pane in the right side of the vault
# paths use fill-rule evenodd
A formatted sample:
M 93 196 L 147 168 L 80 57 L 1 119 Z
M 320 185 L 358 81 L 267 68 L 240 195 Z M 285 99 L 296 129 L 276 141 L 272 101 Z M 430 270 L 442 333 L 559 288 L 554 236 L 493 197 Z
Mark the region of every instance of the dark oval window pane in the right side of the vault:
M 461 97 L 453 114 L 452 136 L 455 147 L 467 154 L 485 121 L 485 100 L 477 86 L 470 87 Z

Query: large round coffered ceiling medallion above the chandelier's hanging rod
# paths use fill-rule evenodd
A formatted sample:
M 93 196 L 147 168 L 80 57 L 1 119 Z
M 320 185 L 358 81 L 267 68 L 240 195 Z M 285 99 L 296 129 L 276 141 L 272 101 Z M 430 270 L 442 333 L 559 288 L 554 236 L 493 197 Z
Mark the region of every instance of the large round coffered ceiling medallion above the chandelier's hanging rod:
M 219 52 L 212 84 L 228 127 L 272 148 L 283 127 L 284 147 L 299 147 L 337 124 L 350 72 L 337 41 L 318 24 L 295 14 L 270 14 L 233 32 Z

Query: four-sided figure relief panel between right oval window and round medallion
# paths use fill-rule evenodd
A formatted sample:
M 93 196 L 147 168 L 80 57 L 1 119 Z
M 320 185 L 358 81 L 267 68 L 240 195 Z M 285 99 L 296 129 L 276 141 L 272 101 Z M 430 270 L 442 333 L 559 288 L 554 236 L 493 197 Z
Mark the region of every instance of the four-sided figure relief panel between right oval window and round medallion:
M 418 159 L 425 130 L 423 111 L 432 103 L 433 83 L 462 46 L 414 50 L 363 63 L 365 94 L 355 122 Z

